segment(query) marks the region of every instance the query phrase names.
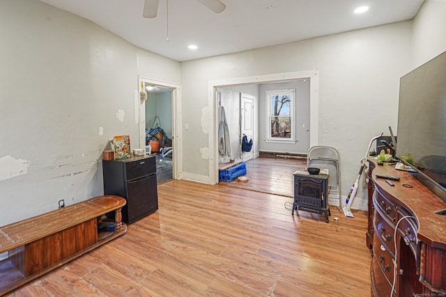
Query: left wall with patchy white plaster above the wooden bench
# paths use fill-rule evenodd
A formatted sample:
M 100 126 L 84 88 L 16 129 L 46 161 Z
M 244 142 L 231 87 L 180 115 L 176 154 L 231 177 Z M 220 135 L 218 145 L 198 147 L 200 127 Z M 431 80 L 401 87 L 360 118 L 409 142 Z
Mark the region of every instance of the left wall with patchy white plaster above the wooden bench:
M 0 1 L 0 225 L 102 195 L 102 150 L 139 147 L 138 75 L 180 63 L 36 0 Z

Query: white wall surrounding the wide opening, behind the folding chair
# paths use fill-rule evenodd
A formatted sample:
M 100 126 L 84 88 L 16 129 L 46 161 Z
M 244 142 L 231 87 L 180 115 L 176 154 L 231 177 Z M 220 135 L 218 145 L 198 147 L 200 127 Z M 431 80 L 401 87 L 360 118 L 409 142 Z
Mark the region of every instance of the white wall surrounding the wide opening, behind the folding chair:
M 397 125 L 399 77 L 410 69 L 411 29 L 412 22 L 399 22 L 182 63 L 183 102 L 188 102 L 183 122 L 194 128 L 193 141 L 183 142 L 190 156 L 184 172 L 209 175 L 208 154 L 202 152 L 212 130 L 201 125 L 214 116 L 208 81 L 318 69 L 318 144 L 339 150 L 346 195 L 371 137 Z M 356 203 L 364 208 L 362 195 Z

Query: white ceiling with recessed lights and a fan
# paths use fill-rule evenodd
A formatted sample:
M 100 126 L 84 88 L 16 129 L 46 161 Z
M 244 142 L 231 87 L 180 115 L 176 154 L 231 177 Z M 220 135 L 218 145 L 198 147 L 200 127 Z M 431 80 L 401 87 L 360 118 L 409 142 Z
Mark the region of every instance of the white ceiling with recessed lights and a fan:
M 79 15 L 128 42 L 189 61 L 412 19 L 424 0 L 221 0 L 215 14 L 197 0 L 160 0 L 155 19 L 144 0 L 40 0 Z M 357 6 L 370 7 L 354 15 Z M 187 49 L 191 43 L 197 50 Z

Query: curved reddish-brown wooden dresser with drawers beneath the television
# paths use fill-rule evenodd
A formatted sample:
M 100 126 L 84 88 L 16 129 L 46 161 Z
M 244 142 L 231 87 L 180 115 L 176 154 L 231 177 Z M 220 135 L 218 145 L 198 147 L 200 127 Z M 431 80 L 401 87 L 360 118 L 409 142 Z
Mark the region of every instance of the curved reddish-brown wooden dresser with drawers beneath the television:
M 372 296 L 446 296 L 446 216 L 436 214 L 446 209 L 446 202 L 409 172 L 376 166 L 373 160 L 369 164 Z M 400 180 L 390 186 L 376 175 Z

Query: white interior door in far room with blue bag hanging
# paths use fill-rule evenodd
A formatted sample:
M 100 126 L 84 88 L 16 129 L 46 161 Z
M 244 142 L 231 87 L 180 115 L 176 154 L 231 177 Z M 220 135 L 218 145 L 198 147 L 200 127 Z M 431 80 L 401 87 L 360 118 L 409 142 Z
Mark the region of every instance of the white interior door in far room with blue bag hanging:
M 243 136 L 254 143 L 254 96 L 240 93 L 240 151 Z M 254 144 L 250 152 L 242 152 L 242 161 L 254 157 Z

